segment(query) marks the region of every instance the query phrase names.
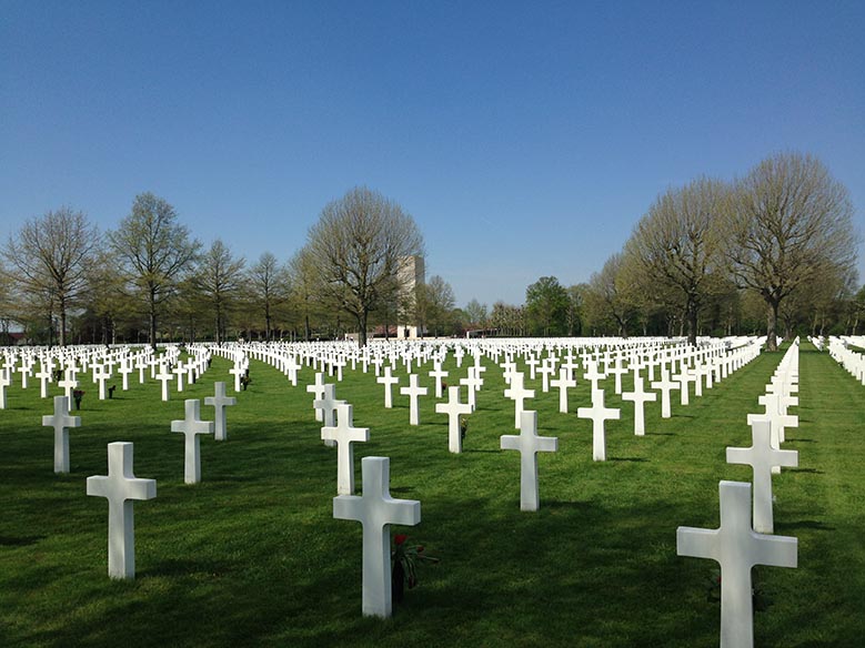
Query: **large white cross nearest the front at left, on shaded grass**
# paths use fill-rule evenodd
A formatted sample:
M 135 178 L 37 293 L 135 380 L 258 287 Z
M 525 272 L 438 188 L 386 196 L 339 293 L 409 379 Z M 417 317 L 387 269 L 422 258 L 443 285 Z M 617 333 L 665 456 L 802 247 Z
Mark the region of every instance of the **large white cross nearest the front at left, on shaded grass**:
M 108 498 L 108 575 L 135 577 L 135 523 L 133 499 L 153 499 L 155 479 L 139 479 L 132 474 L 132 444 L 108 444 L 108 477 L 87 478 L 87 494 Z

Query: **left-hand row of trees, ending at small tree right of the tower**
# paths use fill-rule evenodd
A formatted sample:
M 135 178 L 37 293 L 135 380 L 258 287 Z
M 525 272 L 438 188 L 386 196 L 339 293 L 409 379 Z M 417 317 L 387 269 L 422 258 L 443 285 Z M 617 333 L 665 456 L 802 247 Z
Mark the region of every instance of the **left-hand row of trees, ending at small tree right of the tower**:
M 411 215 L 355 188 L 322 210 L 306 244 L 248 263 L 222 240 L 205 247 L 174 207 L 135 196 L 100 233 L 71 207 L 33 217 L 0 251 L 0 343 L 150 343 L 247 337 L 315 340 L 395 334 L 419 322 L 444 332 L 454 311 L 441 276 L 409 290 L 401 271 L 423 254 Z M 449 328 L 450 330 L 450 328 Z

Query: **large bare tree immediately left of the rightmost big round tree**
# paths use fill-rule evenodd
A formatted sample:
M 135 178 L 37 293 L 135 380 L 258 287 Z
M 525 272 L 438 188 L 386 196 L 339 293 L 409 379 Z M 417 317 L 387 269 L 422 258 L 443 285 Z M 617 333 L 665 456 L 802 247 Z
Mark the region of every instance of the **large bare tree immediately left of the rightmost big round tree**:
M 642 294 L 653 292 L 651 284 L 656 284 L 678 295 L 692 345 L 700 308 L 711 295 L 710 279 L 722 261 L 718 225 L 727 194 L 723 182 L 707 178 L 667 190 L 636 224 L 625 246 L 631 281 L 642 286 Z

